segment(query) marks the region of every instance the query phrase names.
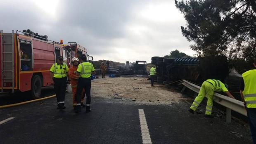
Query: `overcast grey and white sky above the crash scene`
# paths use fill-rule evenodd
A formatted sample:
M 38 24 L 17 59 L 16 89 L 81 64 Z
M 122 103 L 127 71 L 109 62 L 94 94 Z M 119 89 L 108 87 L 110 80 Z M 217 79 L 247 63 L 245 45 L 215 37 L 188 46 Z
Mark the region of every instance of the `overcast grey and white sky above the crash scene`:
M 0 0 L 0 29 L 30 29 L 50 40 L 77 42 L 95 60 L 135 62 L 178 49 L 186 21 L 174 0 Z

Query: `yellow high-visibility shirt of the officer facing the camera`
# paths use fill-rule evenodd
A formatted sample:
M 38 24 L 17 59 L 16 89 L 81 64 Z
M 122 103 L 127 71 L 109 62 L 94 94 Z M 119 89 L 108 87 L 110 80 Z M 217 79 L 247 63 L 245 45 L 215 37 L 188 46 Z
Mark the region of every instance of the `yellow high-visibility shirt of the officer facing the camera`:
M 66 73 L 69 71 L 69 67 L 65 63 L 62 63 L 62 64 L 55 63 L 50 68 L 50 71 L 54 73 L 53 74 L 54 78 L 65 78 Z

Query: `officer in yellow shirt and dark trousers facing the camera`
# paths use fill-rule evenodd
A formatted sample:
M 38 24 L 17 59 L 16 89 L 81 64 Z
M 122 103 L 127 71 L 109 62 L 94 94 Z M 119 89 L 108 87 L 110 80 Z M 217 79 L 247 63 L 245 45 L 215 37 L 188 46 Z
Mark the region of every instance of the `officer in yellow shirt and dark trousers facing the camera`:
M 57 63 L 50 68 L 50 78 L 53 80 L 54 90 L 57 98 L 57 109 L 66 109 L 64 106 L 66 82 L 68 80 L 69 67 L 63 63 L 63 57 L 57 57 Z

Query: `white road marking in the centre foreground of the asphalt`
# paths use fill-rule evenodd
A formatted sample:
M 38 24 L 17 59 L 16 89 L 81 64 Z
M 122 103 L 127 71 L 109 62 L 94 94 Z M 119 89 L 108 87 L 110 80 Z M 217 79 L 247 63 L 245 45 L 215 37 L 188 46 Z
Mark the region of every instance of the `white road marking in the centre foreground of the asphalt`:
M 147 120 L 143 109 L 139 109 L 140 130 L 142 136 L 142 144 L 152 144 L 149 129 L 147 127 Z

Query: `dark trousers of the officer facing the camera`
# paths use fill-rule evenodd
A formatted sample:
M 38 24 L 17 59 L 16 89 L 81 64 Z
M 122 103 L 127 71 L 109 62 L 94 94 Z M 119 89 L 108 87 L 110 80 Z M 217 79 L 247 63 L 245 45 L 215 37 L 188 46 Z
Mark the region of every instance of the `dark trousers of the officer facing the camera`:
M 64 106 L 65 93 L 66 93 L 66 80 L 67 78 L 53 78 L 54 90 L 57 98 L 57 104 L 59 107 Z

